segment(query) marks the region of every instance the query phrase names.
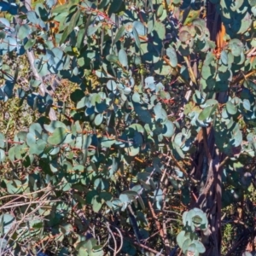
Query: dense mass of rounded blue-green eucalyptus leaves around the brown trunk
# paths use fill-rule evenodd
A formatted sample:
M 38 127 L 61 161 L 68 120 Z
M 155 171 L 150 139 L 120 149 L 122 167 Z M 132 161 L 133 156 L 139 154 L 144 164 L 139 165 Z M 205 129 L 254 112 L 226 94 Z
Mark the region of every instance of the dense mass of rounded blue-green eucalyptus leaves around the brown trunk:
M 253 2 L 218 3 L 228 40 L 218 55 L 213 52 L 215 43 L 210 40 L 205 20 L 197 17 L 184 25 L 184 17 L 176 16 L 184 8 L 179 1 L 166 1 L 172 11 L 160 1 L 151 0 L 146 6 L 144 1 L 73 0 L 55 5 L 48 0 L 32 10 L 21 2 L 1 2 L 0 10 L 9 13 L 9 18 L 0 18 L 0 68 L 5 81 L 0 87 L 0 100 L 6 102 L 19 96 L 33 110 L 45 114 L 28 131 L 16 134 L 12 145 L 0 133 L 0 164 L 9 161 L 13 166 L 35 165 L 42 171 L 27 174 L 22 180 L 6 177 L 3 184 L 9 194 L 36 191 L 51 183 L 64 192 L 82 191 L 85 187 L 85 198 L 76 194 L 73 205 L 87 204 L 94 212 L 125 211 L 131 204 L 143 212 L 147 197 L 160 210 L 163 190 L 159 188 L 160 179 L 155 177 L 165 169 L 160 158 L 142 171 L 131 170 L 134 176 L 130 187 L 111 189 L 135 157 L 168 151 L 177 160 L 183 160 L 194 152 L 195 137 L 201 127 L 210 125 L 219 151 L 230 156 L 224 178 L 236 169 L 232 167 L 236 157 L 254 157 L 256 131 L 250 127 L 256 122 L 256 87 L 250 78 L 234 84 L 241 72 L 255 68 L 256 59 L 247 55 L 248 49 L 255 47 L 253 40 L 247 40 L 255 30 L 249 30 L 256 13 Z M 197 8 L 194 5 L 192 9 Z M 10 22 L 17 18 L 15 25 Z M 42 79 L 57 75 L 79 84 L 80 89 L 71 95 L 75 106 L 70 112 L 72 122 L 49 120 L 54 98 L 38 94 L 40 82 L 32 79 L 29 91 L 16 84 L 18 70 L 4 64 L 3 55 L 24 55 L 26 51 L 36 53 L 34 67 Z M 195 58 L 201 62 L 197 76 L 191 74 L 192 67 L 188 66 L 188 61 Z M 146 73 L 138 72 L 143 65 Z M 92 76 L 96 84 L 91 84 Z M 184 106 L 180 113 L 170 112 L 166 104 L 173 95 L 164 82 L 168 76 L 175 79 L 177 87 L 192 92 L 186 100 L 182 95 L 182 102 L 174 95 L 177 104 Z M 215 99 L 216 93 L 232 90 L 241 81 L 239 97 L 230 94 L 224 102 Z M 58 112 L 67 114 L 66 107 L 66 102 L 60 102 Z M 242 122 L 248 125 L 246 136 Z M 178 177 L 170 177 L 174 189 L 188 191 L 183 170 L 177 166 L 174 171 Z M 239 189 L 251 183 L 243 177 L 244 187 Z M 230 198 L 235 197 L 234 191 L 228 191 Z M 189 195 L 187 201 L 188 198 Z M 56 209 L 70 211 L 64 202 L 54 204 Z M 55 214 L 52 222 L 61 225 L 55 232 L 67 236 L 72 228 L 61 223 L 61 214 Z M 3 218 L 9 216 L 4 214 Z M 191 238 L 188 232 L 207 229 L 206 215 L 199 209 L 185 212 L 183 224 L 185 230 L 177 236 L 183 253 L 203 253 L 205 248 L 199 238 Z M 102 247 L 95 239 L 83 240 L 78 236 L 75 247 L 79 255 L 102 255 Z M 123 250 L 136 254 L 130 243 L 124 244 Z

